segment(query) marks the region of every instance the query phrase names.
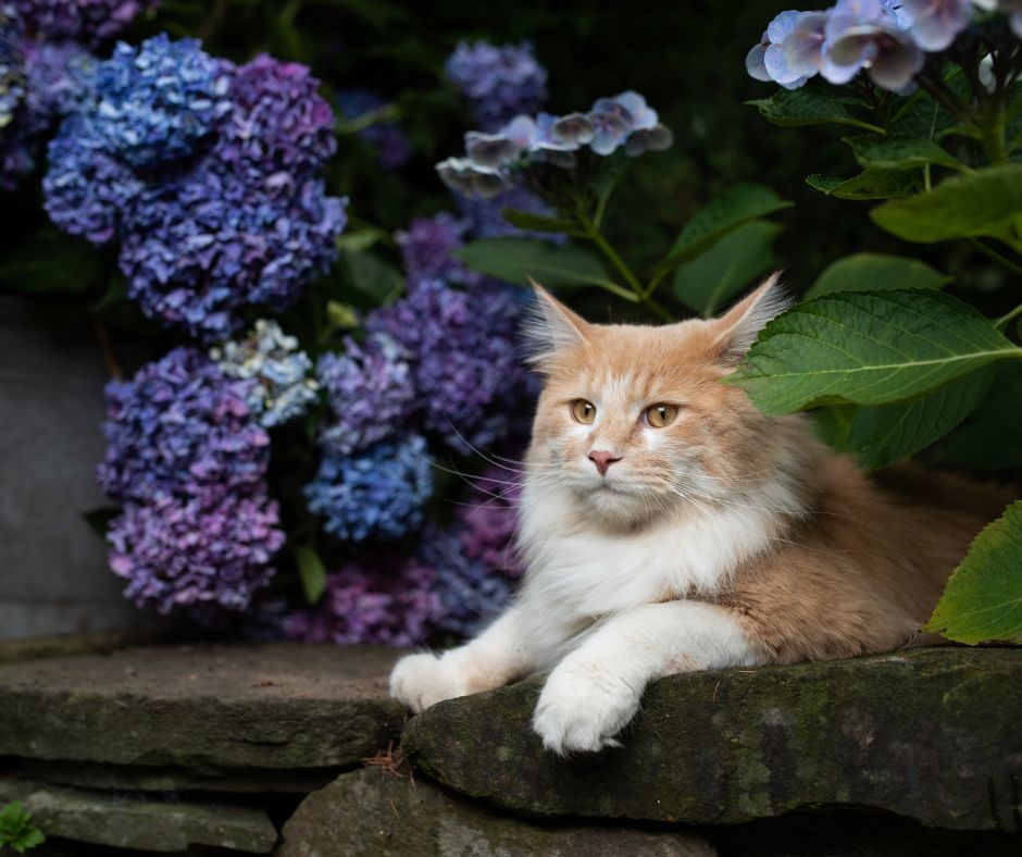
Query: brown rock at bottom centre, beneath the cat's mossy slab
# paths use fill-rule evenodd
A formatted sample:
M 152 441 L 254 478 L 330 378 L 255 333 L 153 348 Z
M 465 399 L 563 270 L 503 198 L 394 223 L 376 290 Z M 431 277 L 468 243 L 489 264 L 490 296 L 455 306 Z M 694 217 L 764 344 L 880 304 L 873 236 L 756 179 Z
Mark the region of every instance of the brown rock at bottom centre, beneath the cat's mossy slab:
M 713 857 L 701 836 L 534 823 L 379 770 L 341 774 L 298 807 L 276 857 Z

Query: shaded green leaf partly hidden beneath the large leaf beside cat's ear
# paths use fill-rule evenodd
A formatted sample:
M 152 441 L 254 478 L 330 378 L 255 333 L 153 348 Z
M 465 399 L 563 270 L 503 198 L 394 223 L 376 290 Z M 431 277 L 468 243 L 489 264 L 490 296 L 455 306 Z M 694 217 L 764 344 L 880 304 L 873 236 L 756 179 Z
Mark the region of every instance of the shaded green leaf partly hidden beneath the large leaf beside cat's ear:
M 987 365 L 912 401 L 855 408 L 844 451 L 855 452 L 865 470 L 878 470 L 925 449 L 975 410 L 994 374 Z

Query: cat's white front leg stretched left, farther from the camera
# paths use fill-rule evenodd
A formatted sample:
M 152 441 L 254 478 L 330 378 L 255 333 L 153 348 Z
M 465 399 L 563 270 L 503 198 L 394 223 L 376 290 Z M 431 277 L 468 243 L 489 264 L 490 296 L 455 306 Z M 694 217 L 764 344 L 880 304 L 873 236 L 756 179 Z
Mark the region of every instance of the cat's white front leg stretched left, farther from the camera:
M 406 655 L 390 673 L 390 695 L 419 713 L 444 699 L 522 678 L 532 661 L 520 625 L 519 608 L 512 607 L 464 646 L 439 655 Z

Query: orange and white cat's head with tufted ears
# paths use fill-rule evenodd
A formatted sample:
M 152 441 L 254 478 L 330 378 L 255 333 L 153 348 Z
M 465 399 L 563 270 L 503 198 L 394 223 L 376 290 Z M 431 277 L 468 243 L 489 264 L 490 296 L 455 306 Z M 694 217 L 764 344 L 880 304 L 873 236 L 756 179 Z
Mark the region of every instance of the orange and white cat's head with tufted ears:
M 771 468 L 777 421 L 721 378 L 785 309 L 776 275 L 718 319 L 660 326 L 591 324 L 536 291 L 533 488 L 631 527 L 726 501 Z

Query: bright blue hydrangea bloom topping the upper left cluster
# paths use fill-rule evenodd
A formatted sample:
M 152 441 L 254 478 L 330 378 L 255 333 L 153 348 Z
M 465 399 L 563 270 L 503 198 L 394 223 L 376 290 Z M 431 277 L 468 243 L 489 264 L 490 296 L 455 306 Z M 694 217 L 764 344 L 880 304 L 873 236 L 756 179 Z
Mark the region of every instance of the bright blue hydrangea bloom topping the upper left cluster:
M 191 154 L 230 112 L 232 71 L 196 39 L 163 33 L 137 48 L 119 42 L 97 71 L 96 131 L 136 167 Z

